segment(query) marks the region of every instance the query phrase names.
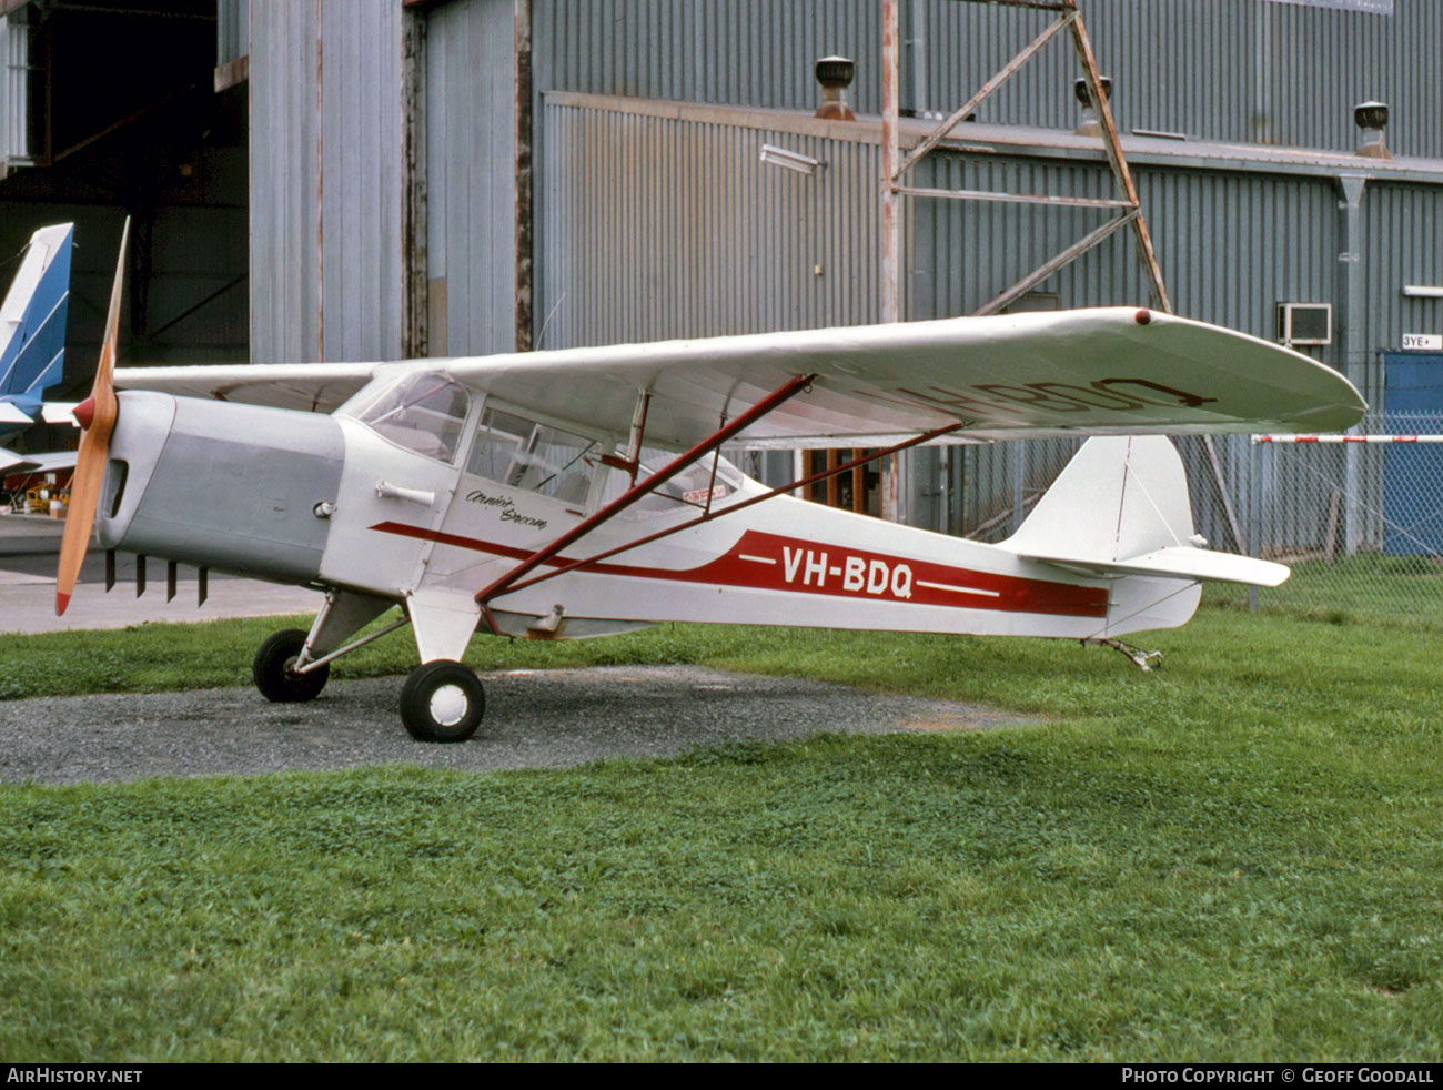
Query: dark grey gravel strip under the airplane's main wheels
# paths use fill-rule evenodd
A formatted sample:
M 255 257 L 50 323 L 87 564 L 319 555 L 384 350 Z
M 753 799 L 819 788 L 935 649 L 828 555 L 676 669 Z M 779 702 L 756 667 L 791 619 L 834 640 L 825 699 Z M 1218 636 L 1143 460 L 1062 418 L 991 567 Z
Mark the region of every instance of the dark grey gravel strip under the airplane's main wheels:
M 332 681 L 310 705 L 270 705 L 253 689 L 0 702 L 0 781 L 74 784 L 378 764 L 545 768 L 680 754 L 742 738 L 1026 722 L 973 705 L 683 666 L 512 670 L 482 680 L 486 722 L 463 745 L 410 739 L 397 712 L 398 677 Z

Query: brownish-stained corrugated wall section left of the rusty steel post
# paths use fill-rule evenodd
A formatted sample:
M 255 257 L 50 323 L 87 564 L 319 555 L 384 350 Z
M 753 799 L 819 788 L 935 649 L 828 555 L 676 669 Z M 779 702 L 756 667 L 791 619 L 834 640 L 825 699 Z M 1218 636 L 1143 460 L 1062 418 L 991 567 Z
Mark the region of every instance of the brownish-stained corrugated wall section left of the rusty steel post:
M 873 126 L 573 94 L 544 124 L 544 346 L 877 321 Z

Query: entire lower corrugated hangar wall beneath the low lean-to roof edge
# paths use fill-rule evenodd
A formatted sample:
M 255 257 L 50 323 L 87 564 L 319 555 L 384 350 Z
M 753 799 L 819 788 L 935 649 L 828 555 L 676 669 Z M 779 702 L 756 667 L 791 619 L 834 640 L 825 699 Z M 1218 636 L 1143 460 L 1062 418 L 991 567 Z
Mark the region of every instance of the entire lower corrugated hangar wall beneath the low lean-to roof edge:
M 548 92 L 548 185 L 540 263 L 545 346 L 821 328 L 876 319 L 874 121 Z M 1045 130 L 974 127 L 925 160 L 919 185 L 1107 196 L 1101 152 Z M 1017 147 L 1009 150 L 1003 139 Z M 821 163 L 812 175 L 760 162 L 775 144 Z M 1278 302 L 1333 306 L 1333 344 L 1307 348 L 1382 401 L 1380 355 L 1403 333 L 1443 329 L 1443 302 L 1404 299 L 1437 283 L 1443 163 L 1134 141 L 1130 157 L 1180 313 L 1273 339 Z M 1341 178 L 1362 179 L 1354 241 Z M 1429 180 L 1431 179 L 1431 182 Z M 903 215 L 912 319 L 970 313 L 1079 238 L 1102 214 L 916 201 Z M 1339 260 L 1343 256 L 1348 260 Z M 1361 267 L 1361 305 L 1352 270 Z M 1404 279 L 1413 277 L 1413 279 Z M 1433 279 L 1429 279 L 1433 277 Z M 1115 234 L 1040 284 L 1055 306 L 1146 302 L 1133 241 Z M 1345 325 L 1359 328 L 1345 335 Z M 908 521 L 994 536 L 1074 443 L 915 452 Z M 1238 547 L 1253 455 L 1225 437 L 1183 443 L 1202 533 Z M 1216 459 L 1216 461 L 1215 461 Z M 1232 507 L 1232 514 L 1228 505 Z M 1315 504 L 1312 510 L 1326 510 Z M 1290 530 L 1297 533 L 1296 530 Z

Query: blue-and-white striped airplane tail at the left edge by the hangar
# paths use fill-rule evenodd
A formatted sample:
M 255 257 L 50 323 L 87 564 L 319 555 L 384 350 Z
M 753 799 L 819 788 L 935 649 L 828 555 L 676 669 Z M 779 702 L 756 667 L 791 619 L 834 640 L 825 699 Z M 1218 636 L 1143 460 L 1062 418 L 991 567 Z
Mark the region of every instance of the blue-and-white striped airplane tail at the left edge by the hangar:
M 74 404 L 42 403 L 40 394 L 63 374 L 74 237 L 74 224 L 42 227 L 30 235 L 0 302 L 0 439 L 42 419 L 72 423 Z M 75 452 L 17 455 L 0 446 L 0 472 L 51 472 L 72 465 Z

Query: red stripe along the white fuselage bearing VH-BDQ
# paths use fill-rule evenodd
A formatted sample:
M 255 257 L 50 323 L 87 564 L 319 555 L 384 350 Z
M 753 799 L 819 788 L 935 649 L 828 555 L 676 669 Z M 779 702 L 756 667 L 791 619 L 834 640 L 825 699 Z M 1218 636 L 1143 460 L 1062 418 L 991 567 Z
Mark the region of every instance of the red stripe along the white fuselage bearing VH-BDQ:
M 528 549 L 446 534 L 405 523 L 377 523 L 371 528 L 512 560 L 525 560 L 532 553 Z M 560 567 L 571 563 L 571 557 L 556 556 L 545 563 L 550 567 Z M 747 530 L 724 554 L 700 567 L 642 567 L 600 562 L 587 564 L 582 570 L 635 579 L 1061 616 L 1105 616 L 1108 599 L 1107 589 L 1098 586 L 978 572 L 866 549 L 824 546 L 758 530 Z

